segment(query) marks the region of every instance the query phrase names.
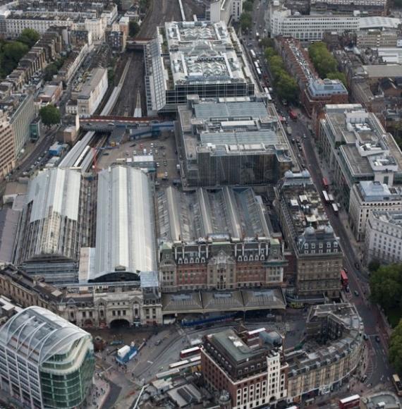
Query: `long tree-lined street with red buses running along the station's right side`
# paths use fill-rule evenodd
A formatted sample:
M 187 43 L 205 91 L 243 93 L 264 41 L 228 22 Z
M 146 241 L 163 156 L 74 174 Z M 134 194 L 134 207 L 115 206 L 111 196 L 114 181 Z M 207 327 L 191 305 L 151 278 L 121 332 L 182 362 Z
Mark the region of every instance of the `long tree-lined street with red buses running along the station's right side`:
M 247 44 L 247 51 L 254 49 L 256 54 L 260 54 L 260 66 L 262 67 L 262 75 L 267 75 L 269 84 L 274 84 L 272 75 L 269 73 L 267 63 L 264 59 L 263 50 L 260 49 L 256 32 L 262 35 L 261 26 L 264 27 L 264 19 L 267 5 L 263 1 L 255 1 L 253 8 L 253 22 L 254 26 L 251 30 L 250 36 L 243 36 L 243 44 Z M 251 48 L 250 48 L 251 47 Z M 248 53 L 247 53 L 248 54 Z M 250 55 L 249 55 L 250 58 Z M 252 63 L 252 62 L 251 62 Z M 268 84 L 268 85 L 269 85 Z M 326 169 L 326 165 L 319 160 L 316 149 L 315 139 L 310 133 L 310 120 L 305 116 L 303 110 L 296 109 L 298 112 L 298 120 L 292 121 L 287 114 L 287 108 L 282 104 L 281 100 L 276 96 L 275 90 L 272 93 L 272 99 L 277 111 L 282 116 L 288 119 L 288 126 L 291 127 L 292 136 L 288 136 L 288 142 L 294 150 L 295 157 L 298 157 L 298 164 L 300 169 L 303 166 L 310 171 L 312 180 L 314 181 L 317 190 L 320 190 L 322 185 L 322 178 L 326 177 L 331 183 L 330 172 Z M 303 138 L 305 135 L 305 138 Z M 298 149 L 291 143 L 291 138 L 300 140 L 302 149 L 298 155 Z M 348 270 L 350 280 L 350 293 L 347 294 L 348 300 L 354 303 L 358 309 L 360 317 L 363 319 L 365 326 L 365 333 L 368 336 L 367 346 L 370 350 L 370 360 L 367 365 L 365 385 L 370 384 L 372 388 L 376 386 L 391 386 L 391 375 L 394 371 L 391 369 L 388 362 L 388 324 L 384 322 L 382 315 L 379 312 L 377 305 L 373 305 L 370 300 L 370 286 L 369 277 L 366 271 L 356 269 L 355 265 L 361 264 L 360 257 L 358 257 L 357 245 L 353 238 L 351 229 L 348 226 L 348 209 L 341 209 L 339 215 L 334 214 L 331 208 L 327 207 L 327 216 L 331 225 L 334 228 L 336 236 L 339 237 L 341 248 L 344 255 L 344 267 Z M 353 295 L 354 291 L 358 291 L 359 296 Z M 376 341 L 376 336 L 379 336 L 379 342 Z

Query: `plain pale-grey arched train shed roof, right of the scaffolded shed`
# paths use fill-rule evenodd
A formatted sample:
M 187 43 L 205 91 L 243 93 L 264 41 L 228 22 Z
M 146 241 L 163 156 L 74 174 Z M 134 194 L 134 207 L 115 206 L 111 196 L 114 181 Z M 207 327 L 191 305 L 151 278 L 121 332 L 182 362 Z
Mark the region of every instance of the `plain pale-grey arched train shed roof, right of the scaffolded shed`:
M 99 173 L 97 279 L 114 271 L 157 269 L 150 182 L 139 169 L 114 166 Z

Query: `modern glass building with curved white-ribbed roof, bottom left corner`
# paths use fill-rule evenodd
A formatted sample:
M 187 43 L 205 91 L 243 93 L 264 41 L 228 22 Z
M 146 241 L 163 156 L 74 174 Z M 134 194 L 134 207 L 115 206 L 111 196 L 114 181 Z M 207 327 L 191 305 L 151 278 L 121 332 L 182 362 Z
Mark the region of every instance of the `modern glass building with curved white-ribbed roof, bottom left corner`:
M 41 307 L 0 328 L 0 386 L 28 408 L 77 408 L 92 384 L 92 336 Z

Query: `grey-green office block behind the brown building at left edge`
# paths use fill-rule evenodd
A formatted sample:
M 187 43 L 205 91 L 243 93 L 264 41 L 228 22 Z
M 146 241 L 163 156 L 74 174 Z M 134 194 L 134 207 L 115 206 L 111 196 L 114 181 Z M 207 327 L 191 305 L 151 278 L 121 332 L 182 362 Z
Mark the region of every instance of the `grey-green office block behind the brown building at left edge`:
M 14 154 L 16 157 L 30 138 L 30 123 L 35 118 L 35 104 L 32 94 L 13 94 L 0 101 L 0 109 L 8 116 L 13 130 Z

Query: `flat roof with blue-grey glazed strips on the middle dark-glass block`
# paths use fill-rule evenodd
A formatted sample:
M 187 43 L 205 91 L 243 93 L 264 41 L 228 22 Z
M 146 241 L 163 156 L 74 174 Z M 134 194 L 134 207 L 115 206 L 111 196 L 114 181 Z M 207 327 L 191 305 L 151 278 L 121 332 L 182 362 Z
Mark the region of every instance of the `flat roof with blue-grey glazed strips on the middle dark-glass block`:
M 197 152 L 270 153 L 291 159 L 279 118 L 262 101 L 250 97 L 197 100 L 193 109 L 179 107 L 178 114 L 187 159 Z

